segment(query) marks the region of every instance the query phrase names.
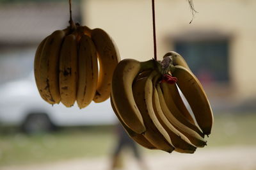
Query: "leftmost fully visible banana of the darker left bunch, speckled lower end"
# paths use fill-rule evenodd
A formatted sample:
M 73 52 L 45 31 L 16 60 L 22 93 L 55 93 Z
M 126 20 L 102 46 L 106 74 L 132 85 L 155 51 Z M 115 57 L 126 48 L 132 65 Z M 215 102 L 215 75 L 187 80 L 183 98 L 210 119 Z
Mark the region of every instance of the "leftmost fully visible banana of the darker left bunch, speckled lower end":
M 38 84 L 40 84 L 39 91 L 49 104 L 58 104 L 60 102 L 58 63 L 64 37 L 64 31 L 54 31 L 47 38 L 41 52 L 40 79 L 38 79 Z

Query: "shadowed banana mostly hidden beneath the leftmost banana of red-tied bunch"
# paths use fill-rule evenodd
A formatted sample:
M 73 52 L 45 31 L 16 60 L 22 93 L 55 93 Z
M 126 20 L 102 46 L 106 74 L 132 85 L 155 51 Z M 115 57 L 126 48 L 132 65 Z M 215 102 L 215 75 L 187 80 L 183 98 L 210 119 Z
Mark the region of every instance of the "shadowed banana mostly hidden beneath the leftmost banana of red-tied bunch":
M 112 100 L 112 97 L 110 97 L 110 102 L 111 102 L 111 106 L 113 108 L 113 111 L 115 112 L 116 114 L 116 117 L 118 118 L 118 120 L 120 121 L 120 123 L 122 124 L 122 126 L 124 127 L 125 131 L 127 132 L 127 134 L 129 134 L 129 136 L 134 140 L 136 141 L 136 143 L 140 144 L 141 146 L 145 147 L 145 148 L 148 148 L 150 150 L 153 150 L 153 149 L 156 149 L 155 146 L 153 146 L 146 138 L 143 134 L 137 134 L 135 132 L 133 132 L 131 130 L 131 128 L 127 127 L 125 125 L 125 123 L 122 121 L 122 119 L 120 118 L 118 112 L 116 111 L 115 109 L 115 104 Z

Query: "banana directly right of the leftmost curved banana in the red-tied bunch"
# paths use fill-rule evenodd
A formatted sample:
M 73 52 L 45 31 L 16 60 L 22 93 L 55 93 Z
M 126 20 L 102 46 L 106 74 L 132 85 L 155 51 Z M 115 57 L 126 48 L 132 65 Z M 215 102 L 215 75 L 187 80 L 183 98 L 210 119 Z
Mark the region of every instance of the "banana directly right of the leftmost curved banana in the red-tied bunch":
M 153 71 L 148 77 L 138 79 L 132 86 L 132 92 L 136 105 L 140 109 L 141 116 L 145 122 L 146 139 L 157 149 L 171 153 L 174 150 L 170 136 L 157 120 L 152 105 L 153 86 L 152 78 L 157 74 Z

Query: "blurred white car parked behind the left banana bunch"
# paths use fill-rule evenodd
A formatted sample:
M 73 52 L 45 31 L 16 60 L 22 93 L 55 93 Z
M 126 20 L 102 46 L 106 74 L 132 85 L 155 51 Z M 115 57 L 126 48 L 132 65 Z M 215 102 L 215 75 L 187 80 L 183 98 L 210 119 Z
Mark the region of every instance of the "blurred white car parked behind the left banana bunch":
M 33 74 L 0 86 L 0 125 L 19 125 L 26 132 L 49 130 L 52 126 L 114 125 L 115 113 L 109 100 L 92 102 L 84 109 L 77 105 L 50 105 L 39 95 Z

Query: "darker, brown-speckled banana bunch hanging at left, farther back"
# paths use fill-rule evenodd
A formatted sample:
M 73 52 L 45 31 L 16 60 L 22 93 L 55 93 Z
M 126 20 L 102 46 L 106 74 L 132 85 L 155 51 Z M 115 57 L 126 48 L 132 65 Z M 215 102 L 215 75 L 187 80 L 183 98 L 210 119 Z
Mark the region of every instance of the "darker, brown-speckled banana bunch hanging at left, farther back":
M 99 66 L 98 66 L 99 61 Z M 54 31 L 38 46 L 35 81 L 49 104 L 80 108 L 107 100 L 113 71 L 120 61 L 118 49 L 104 30 L 74 25 Z

